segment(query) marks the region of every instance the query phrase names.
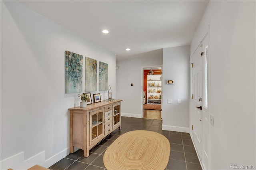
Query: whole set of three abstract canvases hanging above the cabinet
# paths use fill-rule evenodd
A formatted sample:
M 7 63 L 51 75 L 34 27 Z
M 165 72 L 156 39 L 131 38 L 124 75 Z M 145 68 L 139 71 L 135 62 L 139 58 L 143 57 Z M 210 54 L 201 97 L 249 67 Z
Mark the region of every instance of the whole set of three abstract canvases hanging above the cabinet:
M 66 51 L 65 93 L 82 92 L 83 56 Z M 97 91 L 98 61 L 85 57 L 85 91 Z M 99 61 L 99 91 L 108 90 L 108 64 Z

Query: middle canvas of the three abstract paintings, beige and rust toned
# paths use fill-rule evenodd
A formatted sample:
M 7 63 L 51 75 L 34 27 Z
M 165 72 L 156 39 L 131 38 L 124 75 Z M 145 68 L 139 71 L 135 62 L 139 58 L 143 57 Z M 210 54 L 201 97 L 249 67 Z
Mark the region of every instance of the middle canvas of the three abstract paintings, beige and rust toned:
M 85 91 L 97 91 L 97 60 L 85 57 Z

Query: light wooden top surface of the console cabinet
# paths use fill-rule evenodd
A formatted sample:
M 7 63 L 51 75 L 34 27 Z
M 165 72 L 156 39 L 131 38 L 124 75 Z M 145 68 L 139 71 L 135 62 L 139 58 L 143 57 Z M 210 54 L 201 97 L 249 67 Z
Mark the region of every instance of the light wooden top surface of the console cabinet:
M 122 101 L 121 99 L 116 99 L 116 101 L 101 101 L 101 102 L 98 102 L 98 103 L 92 103 L 90 105 L 87 105 L 87 107 L 72 107 L 72 108 L 69 108 L 68 110 L 76 110 L 76 111 L 90 111 L 90 110 L 93 110 L 93 109 L 98 109 L 98 108 L 102 108 L 102 107 L 105 107 L 107 105 L 112 105 L 112 104 L 115 104 L 115 103 L 118 103 Z

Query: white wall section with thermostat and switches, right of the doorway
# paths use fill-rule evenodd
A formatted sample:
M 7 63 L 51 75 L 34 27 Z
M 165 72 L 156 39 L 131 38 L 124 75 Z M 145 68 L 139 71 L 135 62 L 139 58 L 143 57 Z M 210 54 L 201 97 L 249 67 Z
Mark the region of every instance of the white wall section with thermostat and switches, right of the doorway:
M 163 130 L 189 131 L 189 56 L 190 45 L 163 49 Z M 167 79 L 174 79 L 174 84 L 167 85 Z M 172 99 L 172 103 L 167 103 L 167 99 Z

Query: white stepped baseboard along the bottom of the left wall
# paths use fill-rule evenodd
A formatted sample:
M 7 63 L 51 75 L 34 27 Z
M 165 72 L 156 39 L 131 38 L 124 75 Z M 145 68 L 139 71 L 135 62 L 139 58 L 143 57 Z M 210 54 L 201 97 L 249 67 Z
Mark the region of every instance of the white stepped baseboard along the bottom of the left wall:
M 45 160 L 45 151 L 42 151 L 26 160 L 24 160 L 24 152 L 20 152 L 9 158 L 1 160 L 0 162 L 0 169 L 7 170 L 12 168 L 14 170 L 26 170 L 31 168 L 34 165 L 40 165 L 45 168 L 49 168 L 65 156 L 69 154 L 69 148 L 66 148 L 59 152 L 58 154 L 52 156 L 51 158 Z

